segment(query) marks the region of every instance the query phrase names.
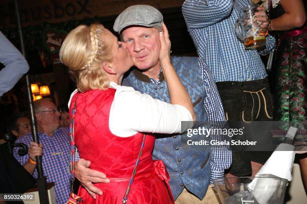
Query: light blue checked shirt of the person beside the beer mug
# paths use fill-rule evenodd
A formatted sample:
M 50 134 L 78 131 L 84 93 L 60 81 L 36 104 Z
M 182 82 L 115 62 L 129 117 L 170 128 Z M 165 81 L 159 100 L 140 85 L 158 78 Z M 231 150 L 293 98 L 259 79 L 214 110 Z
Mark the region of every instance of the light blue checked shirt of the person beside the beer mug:
M 260 54 L 275 44 L 272 36 L 261 50 L 246 50 L 235 33 L 240 9 L 250 0 L 186 0 L 182 6 L 188 31 L 198 55 L 218 81 L 256 80 L 267 76 Z

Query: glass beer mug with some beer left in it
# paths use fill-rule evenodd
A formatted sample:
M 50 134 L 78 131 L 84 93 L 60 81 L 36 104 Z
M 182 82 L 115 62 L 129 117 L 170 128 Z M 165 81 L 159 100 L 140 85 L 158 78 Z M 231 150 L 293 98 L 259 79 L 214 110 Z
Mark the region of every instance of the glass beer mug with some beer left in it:
M 264 46 L 266 43 L 266 29 L 261 28 L 261 21 L 256 20 L 257 4 L 249 4 L 240 11 L 240 17 L 236 20 L 235 31 L 244 42 L 246 49 Z

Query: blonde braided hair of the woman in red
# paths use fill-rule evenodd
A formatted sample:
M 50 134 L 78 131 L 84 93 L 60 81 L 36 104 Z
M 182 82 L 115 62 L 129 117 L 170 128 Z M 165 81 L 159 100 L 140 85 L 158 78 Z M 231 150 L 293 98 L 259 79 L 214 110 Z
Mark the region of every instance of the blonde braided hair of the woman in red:
M 110 44 L 104 40 L 106 31 L 102 24 L 79 25 L 63 41 L 60 59 L 69 67 L 81 92 L 105 89 L 109 85 L 102 68 L 102 62 L 112 60 Z

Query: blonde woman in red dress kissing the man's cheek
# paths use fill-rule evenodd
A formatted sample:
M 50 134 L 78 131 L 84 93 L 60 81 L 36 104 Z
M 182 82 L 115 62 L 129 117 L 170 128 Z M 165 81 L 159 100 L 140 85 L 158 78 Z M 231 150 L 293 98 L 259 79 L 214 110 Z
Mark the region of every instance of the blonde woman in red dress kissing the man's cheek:
M 81 186 L 84 203 L 122 203 L 142 143 L 127 199 L 130 203 L 174 203 L 163 162 L 152 160 L 155 137 L 143 132 L 180 132 L 181 121 L 196 120 L 196 116 L 171 64 L 165 25 L 160 42 L 159 59 L 172 104 L 119 85 L 133 61 L 126 43 L 103 25 L 80 25 L 63 42 L 60 57 L 78 87 L 70 103 L 70 115 L 76 105 L 76 145 L 80 156 L 91 161 L 91 168 L 110 179 L 109 183 L 95 183 L 103 191 L 96 200 Z

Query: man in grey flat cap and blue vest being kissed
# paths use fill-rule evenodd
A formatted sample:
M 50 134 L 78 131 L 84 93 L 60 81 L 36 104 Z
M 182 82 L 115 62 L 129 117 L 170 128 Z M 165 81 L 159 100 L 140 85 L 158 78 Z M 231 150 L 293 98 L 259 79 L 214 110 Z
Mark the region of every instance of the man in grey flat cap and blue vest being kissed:
M 170 102 L 159 61 L 162 24 L 163 15 L 158 9 L 149 5 L 132 5 L 117 16 L 113 29 L 127 43 L 135 65 L 122 85 Z M 176 56 L 172 57 L 172 63 L 191 96 L 198 120 L 224 121 L 221 99 L 206 63 L 197 57 Z M 183 136 L 158 135 L 152 153 L 154 159 L 162 159 L 167 166 L 176 203 L 218 203 L 210 183 L 213 178 L 224 176 L 224 170 L 231 164 L 231 151 L 215 152 L 205 146 L 186 148 Z M 95 193 L 102 192 L 92 182 L 108 182 L 109 179 L 103 172 L 89 166 L 90 161 L 81 158 L 76 162 L 75 176 L 95 197 Z

